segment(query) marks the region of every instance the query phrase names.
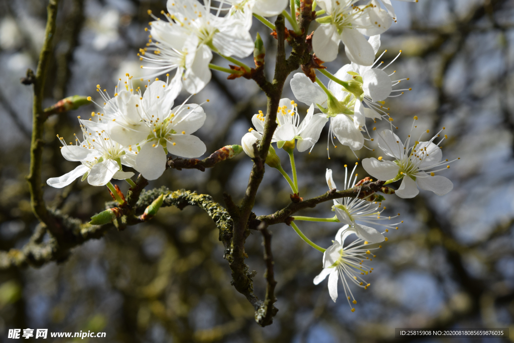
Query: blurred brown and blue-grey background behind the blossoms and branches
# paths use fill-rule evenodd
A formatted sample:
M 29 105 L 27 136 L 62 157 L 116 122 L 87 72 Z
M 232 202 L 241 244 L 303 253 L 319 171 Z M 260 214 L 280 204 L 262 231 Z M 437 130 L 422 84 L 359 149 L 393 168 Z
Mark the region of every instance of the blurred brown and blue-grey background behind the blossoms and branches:
M 337 303 L 330 299 L 326 281 L 313 284 L 322 267 L 321 254 L 282 224 L 270 227 L 279 313 L 271 326 L 259 327 L 252 306 L 230 285 L 223 245 L 209 216 L 194 207 L 162 208 L 149 223 L 121 232 L 113 227 L 102 239 L 75 248 L 65 262 L 0 271 L 0 341 L 7 340 L 11 328 L 104 331 L 112 342 L 156 343 L 395 342 L 394 328 L 400 327 L 510 327 L 514 337 L 514 2 L 393 3 L 398 23 L 382 35 L 380 52 L 388 50 L 382 58 L 388 63 L 402 50 L 389 69 L 396 70 L 398 78 L 409 77 L 405 86 L 413 89 L 387 101 L 399 135 L 408 134 L 417 115 L 422 131 L 446 127 L 444 157 L 461 159 L 443 172 L 453 181 L 451 193 L 421 191 L 413 200 L 387 196 L 386 211 L 401 212 L 404 223 L 388 233 L 389 242 L 372 262 L 374 273 L 367 278 L 371 287 L 353 288 L 355 313 L 344 296 Z M 24 179 L 32 92 L 20 78 L 27 68 L 35 69 L 46 4 L 0 1 L 1 250 L 21 248 L 38 224 Z M 148 9 L 159 13 L 166 10 L 166 2 L 61 0 L 44 105 L 75 94 L 95 96 L 97 84 L 114 89 L 125 73 L 144 76 L 136 53 L 146 43 Z M 271 74 L 276 41 L 254 20 L 252 35 L 257 31 L 265 40 Z M 347 62 L 342 50 L 327 67 L 335 72 Z M 226 66 L 217 58 L 214 63 Z M 178 101 L 186 96 L 181 94 Z M 288 86 L 284 96 L 293 99 Z M 205 99 L 211 101 L 204 106 L 207 121 L 198 135 L 207 153 L 240 142 L 251 116 L 266 106 L 252 81 L 228 81 L 217 71 L 193 97 L 196 102 Z M 304 115 L 306 107 L 301 110 Z M 92 105 L 47 121 L 43 182 L 75 168 L 59 153 L 56 134 L 71 138 L 79 132 L 76 117 L 91 111 Z M 381 122 L 369 125 L 387 128 Z M 355 164 L 355 156 L 341 146 L 331 147 L 328 160 L 326 141 L 325 128 L 310 155 L 296 154 L 301 196 L 327 190 L 325 168 L 332 168 L 336 183 L 342 185 L 342 166 Z M 378 155 L 358 152 L 361 159 Z M 281 156 L 289 170 L 286 155 Z M 242 197 L 251 165 L 242 154 L 205 172 L 168 170 L 148 188 L 196 190 L 223 205 L 223 191 L 236 200 Z M 366 176 L 360 167 L 357 172 Z M 126 191 L 126 184 L 120 186 Z M 284 207 L 289 193 L 282 176 L 268 168 L 255 213 Z M 82 220 L 109 201 L 106 189 L 81 182 L 62 190 L 45 187 L 45 198 L 49 206 Z M 300 214 L 332 216 L 330 207 L 326 203 Z M 325 247 L 339 228 L 336 223 L 299 226 Z M 261 235 L 251 234 L 247 263 L 256 270 L 254 289 L 260 297 L 265 290 L 262 250 Z

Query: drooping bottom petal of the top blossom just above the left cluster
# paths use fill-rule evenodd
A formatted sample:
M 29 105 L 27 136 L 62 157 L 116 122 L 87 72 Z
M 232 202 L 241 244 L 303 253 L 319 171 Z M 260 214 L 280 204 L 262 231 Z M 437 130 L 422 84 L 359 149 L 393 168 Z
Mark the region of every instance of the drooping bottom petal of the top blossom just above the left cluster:
M 200 92 L 211 81 L 211 69 L 209 62 L 212 60 L 212 51 L 207 46 L 202 45 L 196 51 L 193 64 L 189 73 L 182 79 L 184 88 L 191 94 Z

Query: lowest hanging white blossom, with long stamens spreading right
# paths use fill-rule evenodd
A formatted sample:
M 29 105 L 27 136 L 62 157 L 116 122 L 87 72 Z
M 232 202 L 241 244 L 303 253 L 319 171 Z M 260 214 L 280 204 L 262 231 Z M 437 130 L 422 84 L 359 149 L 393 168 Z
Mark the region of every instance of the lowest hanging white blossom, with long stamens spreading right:
M 350 284 L 354 283 L 357 287 L 364 288 L 364 290 L 371 285 L 362 276 L 373 272 L 373 268 L 366 263 L 376 257 L 371 251 L 380 247 L 367 247 L 367 242 L 363 242 L 360 238 L 345 247 L 344 241 L 349 236 L 348 231 L 345 230 L 346 226 L 339 229 L 334 243 L 323 253 L 323 270 L 314 278 L 314 284 L 319 284 L 328 276 L 328 293 L 335 302 L 338 298 L 337 281 L 341 279 L 344 296 L 348 300 L 352 312 L 354 312 L 355 308 L 350 301 L 353 299 L 352 303 L 356 304 L 357 300 L 355 300 L 350 289 Z

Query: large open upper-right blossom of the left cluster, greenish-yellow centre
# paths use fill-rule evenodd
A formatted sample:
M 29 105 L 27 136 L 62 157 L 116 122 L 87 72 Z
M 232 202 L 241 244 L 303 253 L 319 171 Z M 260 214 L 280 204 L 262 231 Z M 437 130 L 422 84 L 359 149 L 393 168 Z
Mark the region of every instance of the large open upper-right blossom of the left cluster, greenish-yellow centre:
M 121 91 L 121 87 L 116 86 L 114 98 L 100 92 L 105 106 L 99 120 L 106 123 L 113 140 L 131 148 L 137 145 L 135 168 L 146 179 L 162 175 L 168 152 L 185 158 L 205 153 L 204 142 L 191 135 L 205 122 L 201 105 L 182 103 L 173 107 L 180 83 L 158 79 L 150 83 L 149 80 L 146 91 L 141 94 L 139 88 L 134 90 L 132 79 L 127 75 L 124 85 Z M 100 91 L 99 86 L 98 89 Z

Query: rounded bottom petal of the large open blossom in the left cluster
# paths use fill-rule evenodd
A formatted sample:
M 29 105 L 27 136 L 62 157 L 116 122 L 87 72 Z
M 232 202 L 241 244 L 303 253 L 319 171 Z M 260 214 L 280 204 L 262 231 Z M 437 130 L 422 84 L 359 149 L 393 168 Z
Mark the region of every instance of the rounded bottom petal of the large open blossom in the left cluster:
M 136 157 L 136 170 L 147 180 L 155 180 L 166 170 L 166 152 L 162 146 L 146 143 Z

